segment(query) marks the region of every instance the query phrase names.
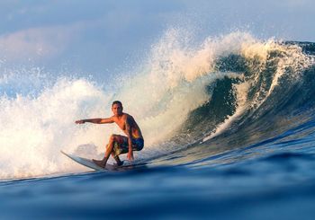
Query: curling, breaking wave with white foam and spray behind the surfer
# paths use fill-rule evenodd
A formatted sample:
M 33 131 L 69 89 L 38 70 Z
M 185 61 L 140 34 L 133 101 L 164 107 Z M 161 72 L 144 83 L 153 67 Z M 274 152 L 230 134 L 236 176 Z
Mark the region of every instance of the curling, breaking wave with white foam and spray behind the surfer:
M 311 120 L 314 55 L 314 43 L 244 32 L 195 43 L 170 30 L 137 73 L 112 79 L 114 90 L 40 68 L 2 68 L 0 178 L 85 171 L 59 151 L 102 157 L 108 137 L 120 131 L 74 121 L 109 116 L 113 100 L 142 128 L 139 162 L 194 163 L 258 145 Z

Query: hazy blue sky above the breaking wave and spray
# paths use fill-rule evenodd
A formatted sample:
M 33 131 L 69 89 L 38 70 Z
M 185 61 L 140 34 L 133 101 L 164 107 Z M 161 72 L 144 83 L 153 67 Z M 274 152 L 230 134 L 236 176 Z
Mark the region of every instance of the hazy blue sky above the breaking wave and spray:
M 314 12 L 314 0 L 0 0 L 0 66 L 109 75 L 171 28 L 315 42 Z

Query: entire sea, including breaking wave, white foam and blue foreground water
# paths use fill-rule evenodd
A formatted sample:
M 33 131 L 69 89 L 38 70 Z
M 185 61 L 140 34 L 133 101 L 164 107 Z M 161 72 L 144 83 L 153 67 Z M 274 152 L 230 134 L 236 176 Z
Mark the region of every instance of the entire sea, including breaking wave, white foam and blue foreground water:
M 170 30 L 111 79 L 0 70 L 1 218 L 315 216 L 315 43 Z M 145 137 L 135 161 L 93 172 L 60 154 L 102 158 L 121 131 L 74 121 L 114 100 Z

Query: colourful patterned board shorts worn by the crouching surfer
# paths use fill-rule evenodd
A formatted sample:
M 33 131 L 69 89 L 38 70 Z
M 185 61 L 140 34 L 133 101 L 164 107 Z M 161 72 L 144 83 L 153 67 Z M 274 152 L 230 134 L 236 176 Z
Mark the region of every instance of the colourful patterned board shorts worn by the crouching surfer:
M 142 150 L 144 145 L 143 138 L 132 138 L 132 151 L 140 151 Z M 128 138 L 127 136 L 121 136 L 118 141 L 113 142 L 112 153 L 114 156 L 118 156 L 119 154 L 126 154 L 129 152 L 128 146 Z

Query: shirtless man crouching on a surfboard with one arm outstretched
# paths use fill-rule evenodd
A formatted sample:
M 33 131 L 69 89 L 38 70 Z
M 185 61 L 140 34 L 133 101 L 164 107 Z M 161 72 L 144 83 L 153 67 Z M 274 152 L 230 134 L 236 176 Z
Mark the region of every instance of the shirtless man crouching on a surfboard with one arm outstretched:
M 105 167 L 107 160 L 112 154 L 118 165 L 122 165 L 119 154 L 127 154 L 127 158 L 132 161 L 133 153 L 132 151 L 140 151 L 143 148 L 144 141 L 141 134 L 141 130 L 137 122 L 127 113 L 122 112 L 121 101 L 112 102 L 112 113 L 113 116 L 108 119 L 82 119 L 76 120 L 76 124 L 84 124 L 85 122 L 90 122 L 94 124 L 107 124 L 115 122 L 119 128 L 126 134 L 126 136 L 112 135 L 106 146 L 105 156 L 103 160 L 94 160 L 93 162 L 98 166 Z

